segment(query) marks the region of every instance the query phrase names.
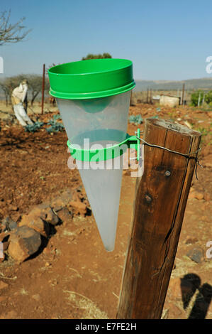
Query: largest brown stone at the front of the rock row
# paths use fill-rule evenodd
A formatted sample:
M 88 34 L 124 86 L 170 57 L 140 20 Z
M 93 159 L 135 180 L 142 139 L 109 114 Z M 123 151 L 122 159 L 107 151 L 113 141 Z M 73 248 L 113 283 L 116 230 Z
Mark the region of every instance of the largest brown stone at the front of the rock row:
M 21 226 L 11 232 L 9 242 L 9 255 L 21 263 L 38 251 L 41 238 L 40 234 L 32 228 Z

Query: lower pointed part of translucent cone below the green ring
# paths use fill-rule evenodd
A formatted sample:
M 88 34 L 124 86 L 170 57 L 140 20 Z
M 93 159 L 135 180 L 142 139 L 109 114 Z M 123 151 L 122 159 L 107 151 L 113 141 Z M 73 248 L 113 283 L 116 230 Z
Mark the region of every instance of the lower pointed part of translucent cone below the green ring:
M 116 159 L 119 157 L 113 162 Z M 79 169 L 99 234 L 108 252 L 115 246 L 122 171 L 122 167 Z

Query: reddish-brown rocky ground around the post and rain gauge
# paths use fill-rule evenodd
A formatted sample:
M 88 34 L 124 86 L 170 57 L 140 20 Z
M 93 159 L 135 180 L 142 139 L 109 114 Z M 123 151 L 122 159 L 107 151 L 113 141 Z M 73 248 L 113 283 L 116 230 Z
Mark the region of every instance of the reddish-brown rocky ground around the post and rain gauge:
M 48 109 L 38 114 L 45 124 L 34 134 L 0 113 L 4 114 L 0 123 L 0 241 L 4 244 L 0 318 L 116 318 L 135 178 L 123 171 L 116 248 L 108 253 L 79 172 L 67 167 L 65 131 L 45 131 L 57 114 L 56 109 L 53 113 Z M 140 124 L 129 122 L 129 134 L 138 126 L 143 129 L 147 117 L 172 119 L 202 133 L 203 168 L 198 168 L 198 180 L 194 176 L 192 181 L 162 318 L 212 318 L 212 250 L 207 252 L 208 242 L 212 247 L 211 113 L 150 104 L 130 107 L 130 122 L 138 119 Z

